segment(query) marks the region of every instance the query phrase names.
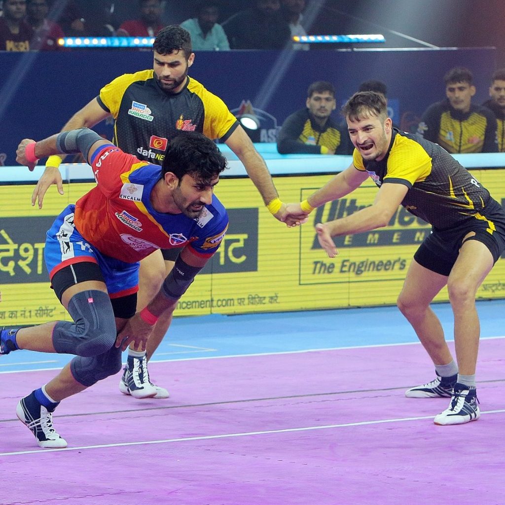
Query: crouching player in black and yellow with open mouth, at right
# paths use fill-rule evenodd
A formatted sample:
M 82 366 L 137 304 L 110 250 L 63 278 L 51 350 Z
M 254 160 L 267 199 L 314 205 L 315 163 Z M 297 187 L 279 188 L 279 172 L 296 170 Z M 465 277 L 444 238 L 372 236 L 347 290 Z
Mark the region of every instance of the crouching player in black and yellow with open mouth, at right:
M 414 255 L 397 305 L 435 365 L 436 378 L 410 388 L 410 398 L 450 397 L 435 424 L 464 424 L 480 417 L 475 369 L 479 347 L 478 287 L 505 250 L 505 213 L 487 189 L 438 144 L 400 132 L 387 117 L 384 95 L 351 96 L 343 107 L 353 163 L 300 204 L 289 204 L 287 221 L 341 198 L 369 177 L 379 188 L 373 205 L 341 219 L 316 224 L 330 258 L 332 237 L 387 226 L 398 206 L 432 225 Z M 447 285 L 454 314 L 456 361 L 440 321 L 430 309 Z

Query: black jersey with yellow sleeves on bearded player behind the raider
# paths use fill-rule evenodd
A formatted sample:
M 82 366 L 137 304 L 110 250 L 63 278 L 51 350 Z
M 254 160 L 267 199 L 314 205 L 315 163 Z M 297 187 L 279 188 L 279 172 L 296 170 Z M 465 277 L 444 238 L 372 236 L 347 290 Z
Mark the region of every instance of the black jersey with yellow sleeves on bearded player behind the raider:
M 226 140 L 238 121 L 221 98 L 188 77 L 178 93 L 167 93 L 153 70 L 124 74 L 104 86 L 96 97 L 112 114 L 114 143 L 126 153 L 161 165 L 168 139 L 177 130 L 197 131 Z

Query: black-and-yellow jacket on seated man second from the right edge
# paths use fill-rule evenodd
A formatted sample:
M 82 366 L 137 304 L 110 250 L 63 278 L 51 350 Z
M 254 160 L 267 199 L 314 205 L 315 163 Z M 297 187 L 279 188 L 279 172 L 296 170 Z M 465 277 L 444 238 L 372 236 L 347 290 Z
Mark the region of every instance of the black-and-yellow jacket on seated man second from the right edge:
M 421 118 L 418 131 L 426 140 L 449 153 L 496 153 L 496 118 L 485 107 L 469 112 L 453 109 L 448 100 L 432 104 Z

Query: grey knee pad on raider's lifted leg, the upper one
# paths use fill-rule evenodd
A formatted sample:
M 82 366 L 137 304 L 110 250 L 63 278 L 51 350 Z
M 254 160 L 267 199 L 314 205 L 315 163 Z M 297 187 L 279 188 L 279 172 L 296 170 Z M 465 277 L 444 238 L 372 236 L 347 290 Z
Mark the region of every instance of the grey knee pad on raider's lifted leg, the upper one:
M 98 356 L 116 341 L 116 321 L 107 293 L 81 291 L 72 296 L 68 312 L 73 323 L 59 321 L 53 330 L 56 352 L 77 356 Z

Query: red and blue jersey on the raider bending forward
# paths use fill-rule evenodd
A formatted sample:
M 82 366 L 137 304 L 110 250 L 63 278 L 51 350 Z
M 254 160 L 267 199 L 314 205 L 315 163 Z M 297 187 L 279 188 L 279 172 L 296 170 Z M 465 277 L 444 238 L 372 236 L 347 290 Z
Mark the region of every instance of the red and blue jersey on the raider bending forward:
M 197 219 L 157 212 L 150 201 L 161 167 L 101 145 L 92 155 L 96 186 L 75 205 L 75 227 L 103 254 L 134 263 L 156 249 L 188 245 L 197 256 L 214 254 L 228 228 L 228 215 L 218 200 Z

